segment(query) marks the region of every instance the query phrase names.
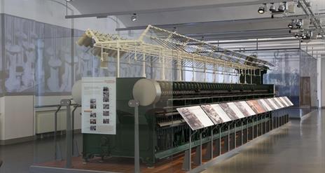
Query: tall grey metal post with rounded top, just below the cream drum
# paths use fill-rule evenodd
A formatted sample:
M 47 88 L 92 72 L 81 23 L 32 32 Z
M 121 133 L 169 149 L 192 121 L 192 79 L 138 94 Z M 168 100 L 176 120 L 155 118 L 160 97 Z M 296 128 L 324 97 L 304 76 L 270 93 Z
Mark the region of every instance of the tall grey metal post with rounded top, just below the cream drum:
M 137 100 L 130 100 L 129 106 L 134 107 L 134 172 L 140 172 L 140 152 L 139 152 L 139 105 Z

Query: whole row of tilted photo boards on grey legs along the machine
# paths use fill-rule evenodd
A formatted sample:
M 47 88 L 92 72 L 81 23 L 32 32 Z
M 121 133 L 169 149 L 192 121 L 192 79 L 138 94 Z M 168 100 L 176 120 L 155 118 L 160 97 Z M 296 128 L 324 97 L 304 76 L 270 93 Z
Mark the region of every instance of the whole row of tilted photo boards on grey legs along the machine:
M 277 102 L 278 105 L 276 106 L 273 102 Z M 212 159 L 213 158 L 213 146 L 214 146 L 214 134 L 213 130 L 215 128 L 221 128 L 223 125 L 228 126 L 228 151 L 230 151 L 230 125 L 234 125 L 234 148 L 237 146 L 237 129 L 240 130 L 240 145 L 244 143 L 243 139 L 243 118 L 250 118 L 253 117 L 252 120 L 252 137 L 251 139 L 254 139 L 254 129 L 255 129 L 255 122 L 254 119 L 256 117 L 254 116 L 262 116 L 265 118 L 264 113 L 275 111 L 277 109 L 282 109 L 284 107 L 291 106 L 291 101 L 287 97 L 274 97 L 270 99 L 251 99 L 247 101 L 241 101 L 241 102 L 226 102 L 221 104 L 206 104 L 201 106 L 190 106 L 190 107 L 184 107 L 184 108 L 178 108 L 177 111 L 181 114 L 181 116 L 184 118 L 186 123 L 191 127 L 191 129 L 194 131 L 190 131 L 189 134 L 189 148 L 188 151 L 185 151 L 184 156 L 184 163 L 183 163 L 183 169 L 184 170 L 191 170 L 191 138 L 193 134 L 196 132 L 200 133 L 200 145 L 196 148 L 195 152 L 195 161 L 194 163 L 197 165 L 202 165 L 202 132 L 205 132 L 207 130 L 207 127 L 211 127 L 214 125 L 214 128 L 211 130 L 211 141 L 209 145 L 207 146 L 207 158 Z M 257 117 L 257 121 L 258 121 Z M 276 118 L 276 127 L 279 125 L 283 125 L 284 122 L 288 122 L 288 118 Z M 237 127 L 237 124 L 240 123 L 240 127 Z M 248 123 L 247 123 L 248 125 Z M 270 123 L 267 124 L 262 123 L 260 126 L 256 127 L 256 137 L 260 134 L 265 134 L 267 131 L 270 131 L 271 125 Z M 268 125 L 268 130 L 267 130 Z M 273 126 L 273 125 L 272 125 Z M 204 129 L 204 130 L 202 130 Z M 260 131 L 258 131 L 260 129 Z M 221 135 L 219 131 L 219 135 Z M 246 141 L 249 138 L 248 134 L 248 127 L 246 132 Z M 221 136 L 219 136 L 219 147 L 221 146 Z M 221 152 L 221 149 L 220 149 Z

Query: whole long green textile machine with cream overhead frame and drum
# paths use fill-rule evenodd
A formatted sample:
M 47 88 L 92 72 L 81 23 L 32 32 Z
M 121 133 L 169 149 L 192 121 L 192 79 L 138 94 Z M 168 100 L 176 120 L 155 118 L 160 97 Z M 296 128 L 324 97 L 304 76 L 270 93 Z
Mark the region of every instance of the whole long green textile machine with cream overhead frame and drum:
M 269 62 L 151 25 L 136 40 L 88 29 L 77 43 L 92 48 L 102 68 L 116 64 L 117 76 L 116 135 L 83 134 L 85 161 L 95 156 L 134 157 L 134 109 L 128 105 L 132 99 L 140 103 L 139 156 L 141 162 L 153 166 L 188 149 L 191 128 L 177 108 L 275 97 L 274 85 L 263 84 L 263 74 L 272 67 Z M 140 77 L 122 78 L 120 64 L 124 62 L 139 65 Z M 148 68 L 160 71 L 160 79 L 146 78 Z M 198 73 L 203 74 L 201 82 L 195 81 Z M 191 81 L 185 81 L 186 75 Z M 207 82 L 208 76 L 214 82 Z M 264 113 L 257 120 L 266 128 L 272 113 Z M 231 125 L 249 127 L 252 122 L 254 119 Z M 228 127 L 220 125 L 214 133 L 202 132 L 203 143 L 212 136 L 213 140 L 224 138 L 226 134 L 222 133 Z M 272 127 L 268 124 L 268 128 Z M 217 133 L 222 135 L 214 137 Z M 198 146 L 199 139 L 199 135 L 193 136 L 193 147 Z

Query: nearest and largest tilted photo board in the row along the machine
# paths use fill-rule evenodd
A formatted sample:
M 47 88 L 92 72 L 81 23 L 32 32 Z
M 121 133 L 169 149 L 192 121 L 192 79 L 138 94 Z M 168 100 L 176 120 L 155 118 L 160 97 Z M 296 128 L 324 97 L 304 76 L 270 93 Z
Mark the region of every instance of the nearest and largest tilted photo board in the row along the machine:
M 198 130 L 214 125 L 200 106 L 178 108 L 177 111 L 179 111 L 192 130 Z

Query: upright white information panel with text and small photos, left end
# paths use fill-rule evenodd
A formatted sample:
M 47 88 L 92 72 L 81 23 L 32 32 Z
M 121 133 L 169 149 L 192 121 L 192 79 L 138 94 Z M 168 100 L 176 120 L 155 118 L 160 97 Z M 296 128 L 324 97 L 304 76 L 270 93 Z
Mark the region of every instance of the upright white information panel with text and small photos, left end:
M 116 78 L 85 77 L 81 132 L 116 134 Z

